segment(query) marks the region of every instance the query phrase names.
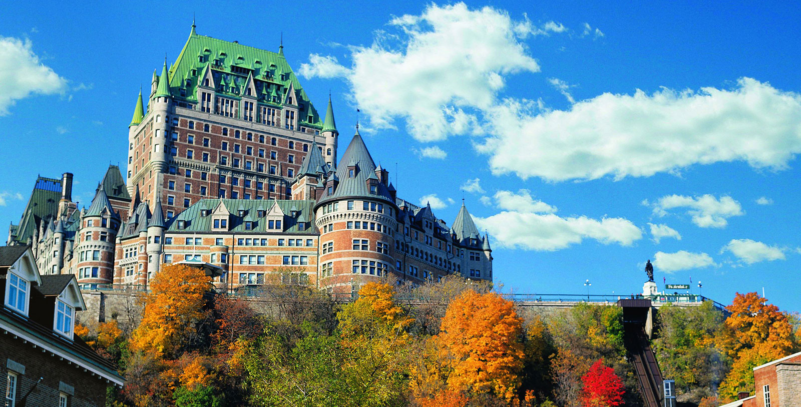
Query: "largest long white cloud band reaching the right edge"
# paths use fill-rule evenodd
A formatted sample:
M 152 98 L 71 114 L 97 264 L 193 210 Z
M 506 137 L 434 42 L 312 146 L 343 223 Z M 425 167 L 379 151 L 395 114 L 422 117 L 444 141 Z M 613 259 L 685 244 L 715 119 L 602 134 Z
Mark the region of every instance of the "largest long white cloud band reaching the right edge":
M 779 170 L 801 152 L 801 95 L 755 79 L 734 89 L 606 93 L 569 111 L 507 99 L 489 111 L 480 151 L 494 174 L 561 181 L 677 172 L 744 161 Z

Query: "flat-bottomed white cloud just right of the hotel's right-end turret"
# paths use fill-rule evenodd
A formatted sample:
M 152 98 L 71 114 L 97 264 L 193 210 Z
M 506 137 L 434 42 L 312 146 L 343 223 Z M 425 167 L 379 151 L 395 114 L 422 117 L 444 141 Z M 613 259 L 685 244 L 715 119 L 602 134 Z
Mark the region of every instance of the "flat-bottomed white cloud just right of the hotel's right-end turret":
M 536 251 L 555 251 L 594 239 L 602 244 L 629 246 L 642 238 L 642 232 L 630 220 L 604 217 L 600 220 L 587 216 L 557 216 L 557 208 L 533 199 L 530 192 L 521 189 L 497 191 L 490 199 L 482 196 L 484 204 L 495 204 L 502 211 L 487 218 L 476 218 L 480 228 L 489 231 L 497 244 L 505 248 L 522 248 Z

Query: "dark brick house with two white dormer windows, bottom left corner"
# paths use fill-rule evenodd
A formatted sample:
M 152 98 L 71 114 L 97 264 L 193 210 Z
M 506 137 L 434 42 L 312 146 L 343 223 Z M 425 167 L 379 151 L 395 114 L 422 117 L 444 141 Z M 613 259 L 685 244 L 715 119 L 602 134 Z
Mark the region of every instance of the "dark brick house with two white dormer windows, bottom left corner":
M 27 246 L 0 247 L 0 361 L 6 406 L 103 406 L 115 367 L 74 335 L 86 308 L 72 275 L 40 276 Z

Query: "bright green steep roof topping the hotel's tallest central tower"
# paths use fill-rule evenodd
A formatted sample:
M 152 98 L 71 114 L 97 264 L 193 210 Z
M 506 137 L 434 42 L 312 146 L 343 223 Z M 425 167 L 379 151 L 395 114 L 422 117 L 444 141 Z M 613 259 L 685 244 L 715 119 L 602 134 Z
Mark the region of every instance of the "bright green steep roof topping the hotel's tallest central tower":
M 211 73 L 217 85 L 217 95 L 233 99 L 241 96 L 241 86 L 249 74 L 256 84 L 259 103 L 280 106 L 286 99 L 289 86 L 295 88 L 296 103 L 303 105 L 300 122 L 310 127 L 321 128 L 320 115 L 300 86 L 284 54 L 260 50 L 237 42 L 198 35 L 192 30 L 187 43 L 170 68 L 169 87 L 174 99 L 197 103 L 197 86 L 203 68 L 211 64 Z M 161 79 L 159 79 L 159 86 Z M 185 91 L 182 92 L 181 90 Z M 157 92 L 158 93 L 158 92 Z

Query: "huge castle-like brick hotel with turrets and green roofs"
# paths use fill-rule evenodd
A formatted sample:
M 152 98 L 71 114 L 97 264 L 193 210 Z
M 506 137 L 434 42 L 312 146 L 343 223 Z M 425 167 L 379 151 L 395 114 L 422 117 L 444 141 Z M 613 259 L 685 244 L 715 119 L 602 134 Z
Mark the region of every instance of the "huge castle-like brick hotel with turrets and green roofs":
M 397 195 L 358 127 L 337 160 L 331 100 L 318 115 L 277 53 L 195 33 L 153 72 L 89 208 L 72 174 L 39 177 L 8 244 L 85 289 L 147 288 L 161 264 L 216 270 L 219 288 L 284 282 L 353 292 L 373 280 L 492 280 L 492 250 L 462 205 L 449 227 Z M 287 280 L 288 279 L 288 280 Z

